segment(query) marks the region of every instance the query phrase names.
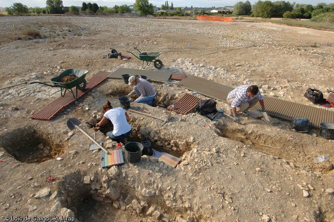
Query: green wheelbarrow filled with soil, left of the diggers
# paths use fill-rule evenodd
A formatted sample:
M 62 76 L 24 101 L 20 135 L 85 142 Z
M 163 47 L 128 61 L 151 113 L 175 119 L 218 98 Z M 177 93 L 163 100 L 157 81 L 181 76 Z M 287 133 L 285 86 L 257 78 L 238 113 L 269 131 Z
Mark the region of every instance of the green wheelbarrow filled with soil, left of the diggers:
M 64 96 L 66 91 L 69 91 L 70 93 L 72 93 L 74 99 L 78 98 L 78 89 L 83 91 L 86 88 L 86 85 L 88 84 L 88 82 L 85 80 L 86 74 L 88 73 L 88 70 L 82 70 L 82 69 L 67 69 L 65 71 L 63 71 L 62 73 L 60 73 L 58 76 L 53 77 L 50 81 L 53 83 L 53 85 L 51 84 L 47 84 L 44 82 L 29 82 L 28 84 L 33 84 L 33 83 L 39 83 L 39 84 L 43 84 L 43 85 L 47 85 L 47 86 L 51 86 L 51 87 L 60 87 L 60 95 Z M 74 74 L 77 76 L 76 79 L 70 81 L 70 82 L 60 82 L 60 78 L 64 77 L 68 74 Z M 73 87 L 76 88 L 76 93 L 74 94 L 73 92 Z

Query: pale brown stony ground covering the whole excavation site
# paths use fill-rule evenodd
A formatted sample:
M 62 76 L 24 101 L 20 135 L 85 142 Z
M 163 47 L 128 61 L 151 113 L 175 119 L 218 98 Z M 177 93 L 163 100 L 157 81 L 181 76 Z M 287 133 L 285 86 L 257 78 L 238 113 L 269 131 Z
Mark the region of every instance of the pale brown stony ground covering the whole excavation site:
M 39 38 L 23 34 L 34 29 Z M 95 133 L 105 148 L 120 149 L 105 139 L 108 125 L 96 129 L 90 124 L 101 118 L 107 100 L 119 107 L 117 98 L 131 87 L 123 80 L 107 79 L 53 120 L 41 121 L 29 117 L 58 98 L 60 89 L 26 84 L 50 83 L 69 68 L 89 70 L 86 79 L 101 70 L 140 69 L 137 58 L 102 58 L 110 48 L 131 56 L 127 51 L 138 46 L 163 52 L 161 70 L 232 87 L 257 84 L 263 95 L 317 106 L 303 95 L 307 88 L 317 88 L 325 97 L 328 90 L 334 91 L 333 37 L 331 31 L 265 22 L 1 17 L 2 220 L 334 222 L 334 142 L 320 137 L 318 128 L 299 133 L 282 119 L 273 118 L 269 125 L 242 114 L 246 125 L 239 125 L 223 115 L 210 121 L 196 113 L 174 112 L 161 126 L 161 120 L 129 112 L 130 141 L 150 140 L 155 149 L 181 161 L 172 168 L 143 156 L 137 164 L 102 169 L 102 152 L 88 150 L 91 141 L 79 130 L 71 131 L 66 122 L 78 118 L 80 127 Z M 167 118 L 166 107 L 184 93 L 206 99 L 174 83 L 152 83 L 158 107 L 131 104 L 132 108 Z M 17 86 L 3 89 L 13 85 Z M 316 163 L 319 156 L 326 160 Z

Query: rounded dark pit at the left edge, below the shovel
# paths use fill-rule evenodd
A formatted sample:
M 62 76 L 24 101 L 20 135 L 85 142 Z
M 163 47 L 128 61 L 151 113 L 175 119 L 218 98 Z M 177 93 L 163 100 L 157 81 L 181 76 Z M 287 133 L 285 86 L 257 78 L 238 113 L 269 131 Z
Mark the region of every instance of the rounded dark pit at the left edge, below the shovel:
M 1 136 L 0 146 L 17 161 L 42 163 L 64 153 L 63 145 L 55 142 L 53 136 L 33 127 L 23 127 Z

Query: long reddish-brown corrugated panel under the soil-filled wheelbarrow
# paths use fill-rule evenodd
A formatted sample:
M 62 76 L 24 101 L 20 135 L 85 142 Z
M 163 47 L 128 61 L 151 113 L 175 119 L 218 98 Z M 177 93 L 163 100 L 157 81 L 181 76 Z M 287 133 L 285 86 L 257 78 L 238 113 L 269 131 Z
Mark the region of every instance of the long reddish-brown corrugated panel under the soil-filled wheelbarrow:
M 85 90 L 84 91 L 78 90 L 78 99 L 87 94 L 95 86 L 99 85 L 101 82 L 106 80 L 108 75 L 110 75 L 110 72 L 100 71 L 96 73 L 92 78 L 87 80 L 88 84 L 86 85 Z M 74 94 L 76 94 L 76 87 L 73 87 L 72 90 Z M 57 98 L 43 109 L 33 114 L 30 118 L 38 120 L 51 120 L 65 107 L 67 107 L 68 105 L 72 104 L 75 101 L 76 99 L 74 99 L 72 93 L 66 92 L 64 96 Z

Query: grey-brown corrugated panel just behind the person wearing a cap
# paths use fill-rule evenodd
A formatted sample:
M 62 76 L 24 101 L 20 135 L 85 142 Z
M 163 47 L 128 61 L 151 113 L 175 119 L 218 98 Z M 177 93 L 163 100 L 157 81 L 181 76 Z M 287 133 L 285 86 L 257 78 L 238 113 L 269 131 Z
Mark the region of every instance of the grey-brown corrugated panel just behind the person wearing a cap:
M 158 71 L 158 70 L 144 70 L 144 69 L 128 69 L 128 68 L 119 68 L 115 72 L 111 73 L 108 78 L 113 79 L 122 79 L 123 74 L 130 75 L 145 75 L 148 80 L 158 80 L 167 82 L 171 76 L 171 72 L 167 71 Z

